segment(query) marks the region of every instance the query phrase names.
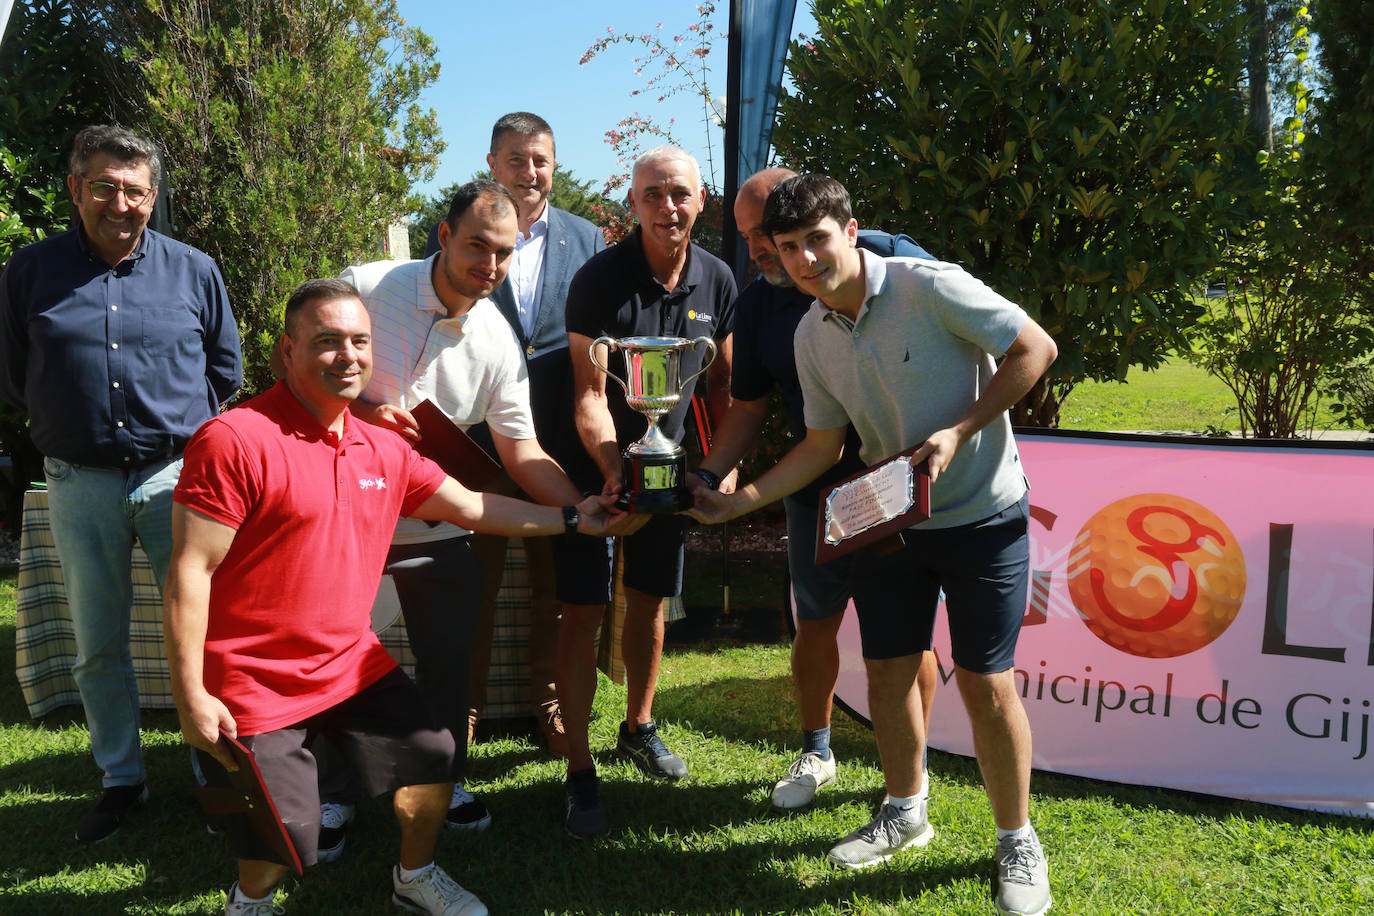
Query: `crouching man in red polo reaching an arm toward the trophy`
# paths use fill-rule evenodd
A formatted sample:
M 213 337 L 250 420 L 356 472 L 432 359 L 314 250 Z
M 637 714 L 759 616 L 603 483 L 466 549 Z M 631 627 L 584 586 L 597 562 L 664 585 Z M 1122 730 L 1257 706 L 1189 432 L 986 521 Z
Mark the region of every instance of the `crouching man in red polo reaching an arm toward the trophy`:
M 357 291 L 311 280 L 286 306 L 286 378 L 191 439 L 173 509 L 165 597 L 181 732 L 212 784 L 253 750 L 302 864 L 316 861 L 319 797 L 306 744 L 328 733 L 363 787 L 394 790 L 401 827 L 392 902 L 445 916 L 486 908 L 434 864 L 453 739 L 370 628 L 400 515 L 514 537 L 606 536 L 613 497 L 541 507 L 474 493 L 398 435 L 356 420 L 371 371 Z M 225 913 L 262 915 L 287 867 L 231 818 L 238 882 Z

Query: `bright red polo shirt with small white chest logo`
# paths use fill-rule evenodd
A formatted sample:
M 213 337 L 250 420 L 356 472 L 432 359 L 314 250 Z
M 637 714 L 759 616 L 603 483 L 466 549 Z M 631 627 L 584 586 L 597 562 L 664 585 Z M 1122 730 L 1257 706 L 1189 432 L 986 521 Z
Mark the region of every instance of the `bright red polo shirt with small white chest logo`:
M 389 430 L 344 435 L 284 383 L 209 420 L 185 449 L 176 501 L 238 533 L 210 582 L 205 688 L 240 735 L 300 722 L 396 662 L 371 608 L 396 519 L 444 482 Z

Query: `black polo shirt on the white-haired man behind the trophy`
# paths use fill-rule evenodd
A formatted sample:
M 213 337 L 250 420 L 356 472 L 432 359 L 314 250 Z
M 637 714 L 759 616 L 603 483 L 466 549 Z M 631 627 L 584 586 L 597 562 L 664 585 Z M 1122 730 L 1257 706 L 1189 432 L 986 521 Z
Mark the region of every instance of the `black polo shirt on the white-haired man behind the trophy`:
M 569 334 L 594 341 L 599 336 L 709 336 L 719 342 L 730 336 L 734 330 L 735 277 L 725 262 L 692 243 L 677 287 L 665 290 L 649 269 L 640 232 L 635 227 L 621 242 L 592 255 L 573 276 L 567 287 Z M 684 379 L 701 368 L 705 350 L 705 346 L 698 346 L 683 353 Z M 625 358 L 621 352 L 611 353 L 609 367 L 624 378 Z M 701 379 L 697 379 L 686 385 L 682 401 L 658 422 L 664 435 L 675 442 L 683 439 L 688 401 L 699 383 Z M 643 437 L 647 428 L 644 415 L 632 411 L 625 404 L 624 390 L 609 379 L 606 401 L 621 448 Z M 580 485 L 589 483 L 577 477 L 574 481 Z

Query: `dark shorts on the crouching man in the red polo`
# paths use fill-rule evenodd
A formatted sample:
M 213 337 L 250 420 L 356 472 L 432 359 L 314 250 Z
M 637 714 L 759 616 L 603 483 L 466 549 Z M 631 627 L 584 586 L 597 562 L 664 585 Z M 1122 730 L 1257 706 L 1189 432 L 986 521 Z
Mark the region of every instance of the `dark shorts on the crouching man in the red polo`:
M 295 725 L 239 735 L 239 742 L 253 751 L 301 865 L 313 865 L 319 857 L 319 779 L 315 755 L 306 747 L 319 735 L 330 736 L 370 795 L 452 780 L 453 736 L 433 720 L 419 688 L 398 667 Z M 228 773 L 213 757 L 201 750 L 195 754 L 206 783 L 229 786 Z M 287 864 L 258 839 L 247 814 L 231 814 L 227 823 L 235 858 Z

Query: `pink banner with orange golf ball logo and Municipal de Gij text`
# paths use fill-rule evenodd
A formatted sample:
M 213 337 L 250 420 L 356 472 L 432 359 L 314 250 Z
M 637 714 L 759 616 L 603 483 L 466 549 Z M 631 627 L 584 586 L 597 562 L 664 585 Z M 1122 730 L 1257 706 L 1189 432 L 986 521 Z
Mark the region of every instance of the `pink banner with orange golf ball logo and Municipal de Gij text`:
M 1374 449 L 1017 441 L 1035 766 L 1374 814 Z M 837 698 L 867 718 L 853 614 L 840 639 Z M 930 744 L 971 755 L 948 647 L 937 622 Z

